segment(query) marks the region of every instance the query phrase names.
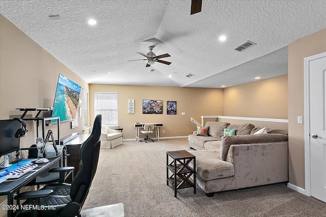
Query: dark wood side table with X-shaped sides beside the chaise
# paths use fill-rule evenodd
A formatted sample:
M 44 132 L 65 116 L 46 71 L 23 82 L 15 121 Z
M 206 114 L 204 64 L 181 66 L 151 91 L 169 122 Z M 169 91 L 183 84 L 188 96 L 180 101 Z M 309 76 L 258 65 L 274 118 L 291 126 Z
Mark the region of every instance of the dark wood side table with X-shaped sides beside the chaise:
M 169 157 L 172 161 L 169 163 Z M 193 161 L 193 167 L 189 165 Z M 177 197 L 178 189 L 194 188 L 196 194 L 196 157 L 186 150 L 167 151 L 167 185 L 174 189 Z M 170 172 L 169 172 L 170 171 Z M 172 173 L 171 175 L 169 175 Z M 190 177 L 194 176 L 194 180 Z

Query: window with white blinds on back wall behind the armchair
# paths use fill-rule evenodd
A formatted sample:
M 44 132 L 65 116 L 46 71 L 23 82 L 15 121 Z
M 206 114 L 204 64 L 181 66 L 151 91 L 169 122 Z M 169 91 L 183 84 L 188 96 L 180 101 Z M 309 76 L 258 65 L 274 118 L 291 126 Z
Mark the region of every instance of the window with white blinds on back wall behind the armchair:
M 118 124 L 118 94 L 114 92 L 94 93 L 94 114 L 102 115 L 102 123 L 108 126 Z

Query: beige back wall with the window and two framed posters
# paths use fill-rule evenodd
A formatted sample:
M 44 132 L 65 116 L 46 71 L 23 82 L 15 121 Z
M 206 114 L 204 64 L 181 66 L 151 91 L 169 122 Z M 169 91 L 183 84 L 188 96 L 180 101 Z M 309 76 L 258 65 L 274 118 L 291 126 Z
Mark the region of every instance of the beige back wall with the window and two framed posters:
M 223 89 L 163 86 L 90 84 L 90 116 L 94 121 L 94 92 L 117 92 L 119 125 L 123 139 L 135 138 L 135 122 L 162 122 L 160 137 L 187 136 L 196 130 L 190 121 L 201 115 L 223 115 Z M 134 114 L 128 114 L 128 99 L 134 99 Z M 163 100 L 163 114 L 143 114 L 143 100 Z M 177 101 L 177 114 L 167 115 L 167 101 Z M 185 115 L 181 115 L 185 112 Z M 162 133 L 165 130 L 165 133 Z

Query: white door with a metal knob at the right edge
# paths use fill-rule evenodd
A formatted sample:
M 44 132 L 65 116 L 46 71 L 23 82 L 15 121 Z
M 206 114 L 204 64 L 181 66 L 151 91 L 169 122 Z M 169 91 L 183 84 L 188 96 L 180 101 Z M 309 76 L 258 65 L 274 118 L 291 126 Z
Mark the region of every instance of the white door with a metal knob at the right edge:
M 309 62 L 309 97 L 311 196 L 326 202 L 326 56 Z

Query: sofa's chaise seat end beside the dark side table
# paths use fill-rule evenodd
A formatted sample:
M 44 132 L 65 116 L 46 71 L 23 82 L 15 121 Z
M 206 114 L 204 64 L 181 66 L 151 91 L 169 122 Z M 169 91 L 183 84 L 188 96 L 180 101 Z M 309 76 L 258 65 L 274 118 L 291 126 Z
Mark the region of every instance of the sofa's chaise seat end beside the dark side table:
M 188 151 L 196 156 L 196 174 L 203 180 L 225 178 L 234 175 L 233 164 L 221 161 L 219 149 Z M 191 165 L 193 166 L 193 165 Z

